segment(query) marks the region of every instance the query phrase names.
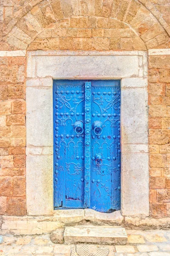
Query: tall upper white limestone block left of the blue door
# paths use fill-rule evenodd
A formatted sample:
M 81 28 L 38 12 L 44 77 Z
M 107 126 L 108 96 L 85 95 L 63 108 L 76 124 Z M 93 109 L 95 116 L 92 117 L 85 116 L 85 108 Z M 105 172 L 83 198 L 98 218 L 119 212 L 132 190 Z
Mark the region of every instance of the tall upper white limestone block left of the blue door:
M 53 98 L 51 87 L 26 88 L 27 146 L 53 145 Z

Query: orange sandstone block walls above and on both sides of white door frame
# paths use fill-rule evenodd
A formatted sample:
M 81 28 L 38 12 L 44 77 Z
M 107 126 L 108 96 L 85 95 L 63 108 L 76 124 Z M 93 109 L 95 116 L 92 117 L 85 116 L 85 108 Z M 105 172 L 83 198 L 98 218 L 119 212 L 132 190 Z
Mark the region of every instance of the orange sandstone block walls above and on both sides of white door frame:
M 1 0 L 0 50 L 170 48 L 167 0 Z M 9 56 L 9 55 L 8 55 Z M 149 56 L 150 215 L 170 216 L 170 55 Z M 0 214 L 26 214 L 26 57 L 0 57 Z

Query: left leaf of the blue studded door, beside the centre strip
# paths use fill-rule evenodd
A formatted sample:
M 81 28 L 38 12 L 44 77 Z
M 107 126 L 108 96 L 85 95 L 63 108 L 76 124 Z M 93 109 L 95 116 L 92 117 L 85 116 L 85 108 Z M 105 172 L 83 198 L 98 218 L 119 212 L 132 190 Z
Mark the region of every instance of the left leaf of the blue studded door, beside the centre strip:
M 54 206 L 84 207 L 85 139 L 75 123 L 84 126 L 85 81 L 54 81 L 54 89 Z

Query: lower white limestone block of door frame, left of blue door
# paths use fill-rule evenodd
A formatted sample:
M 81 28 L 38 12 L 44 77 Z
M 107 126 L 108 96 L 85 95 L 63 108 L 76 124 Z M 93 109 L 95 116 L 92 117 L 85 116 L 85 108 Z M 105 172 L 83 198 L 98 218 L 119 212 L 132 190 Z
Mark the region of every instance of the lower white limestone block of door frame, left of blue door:
M 26 166 L 28 215 L 51 215 L 53 213 L 52 155 L 28 155 Z

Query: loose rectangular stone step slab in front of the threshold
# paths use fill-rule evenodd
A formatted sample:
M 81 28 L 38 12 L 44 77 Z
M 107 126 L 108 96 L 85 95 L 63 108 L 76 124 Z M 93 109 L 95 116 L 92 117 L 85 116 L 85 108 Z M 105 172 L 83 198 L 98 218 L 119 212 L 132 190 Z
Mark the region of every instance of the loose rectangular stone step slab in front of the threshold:
M 65 227 L 64 243 L 94 243 L 94 244 L 126 244 L 125 228 L 112 226 L 74 226 Z

